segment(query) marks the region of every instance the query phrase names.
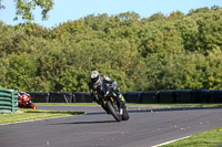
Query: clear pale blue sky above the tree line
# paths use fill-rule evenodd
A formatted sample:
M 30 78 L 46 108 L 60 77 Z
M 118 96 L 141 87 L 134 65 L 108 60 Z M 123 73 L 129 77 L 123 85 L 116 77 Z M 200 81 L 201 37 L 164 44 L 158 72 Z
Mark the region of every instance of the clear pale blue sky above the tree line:
M 14 0 L 2 0 L 2 4 L 6 9 L 0 9 L 0 20 L 11 25 L 23 22 L 21 19 L 13 21 Z M 33 22 L 46 28 L 56 28 L 60 23 L 79 20 L 89 14 L 117 15 L 130 11 L 141 18 L 149 18 L 158 12 L 170 15 L 173 11 L 181 11 L 186 14 L 191 9 L 212 6 L 222 7 L 222 0 L 54 0 L 48 20 L 42 21 L 41 9 L 37 8 L 33 11 Z

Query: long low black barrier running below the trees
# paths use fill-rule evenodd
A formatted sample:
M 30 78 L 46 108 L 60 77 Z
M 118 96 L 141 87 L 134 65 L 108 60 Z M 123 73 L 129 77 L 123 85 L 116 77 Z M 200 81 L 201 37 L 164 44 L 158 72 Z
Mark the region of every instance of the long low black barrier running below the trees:
M 92 103 L 89 93 L 83 92 L 30 92 L 34 103 Z M 222 90 L 169 90 L 122 93 L 128 103 L 222 103 Z

